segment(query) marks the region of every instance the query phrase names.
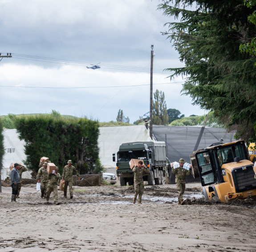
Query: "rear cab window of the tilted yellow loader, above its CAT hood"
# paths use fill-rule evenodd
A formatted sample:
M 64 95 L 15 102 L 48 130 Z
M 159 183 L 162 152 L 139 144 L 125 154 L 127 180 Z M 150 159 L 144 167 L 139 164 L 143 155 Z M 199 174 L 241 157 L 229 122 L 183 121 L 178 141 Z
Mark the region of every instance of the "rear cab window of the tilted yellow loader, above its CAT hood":
M 217 156 L 220 166 L 224 163 L 233 162 L 236 157 L 240 157 L 241 160 L 246 159 L 242 145 L 227 146 L 223 149 L 217 150 Z

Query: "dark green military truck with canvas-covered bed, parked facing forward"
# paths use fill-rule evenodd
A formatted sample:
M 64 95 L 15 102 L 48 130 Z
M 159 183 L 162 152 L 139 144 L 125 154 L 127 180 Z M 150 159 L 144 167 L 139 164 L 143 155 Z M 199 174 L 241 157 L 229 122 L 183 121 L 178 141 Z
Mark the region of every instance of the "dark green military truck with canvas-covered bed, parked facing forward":
M 130 169 L 130 160 L 142 159 L 150 169 L 150 174 L 145 174 L 144 181 L 148 185 L 163 185 L 165 182 L 166 150 L 165 142 L 128 142 L 119 146 L 117 153 L 117 176 L 120 185 L 134 184 L 134 173 Z M 116 161 L 115 153 L 113 161 Z

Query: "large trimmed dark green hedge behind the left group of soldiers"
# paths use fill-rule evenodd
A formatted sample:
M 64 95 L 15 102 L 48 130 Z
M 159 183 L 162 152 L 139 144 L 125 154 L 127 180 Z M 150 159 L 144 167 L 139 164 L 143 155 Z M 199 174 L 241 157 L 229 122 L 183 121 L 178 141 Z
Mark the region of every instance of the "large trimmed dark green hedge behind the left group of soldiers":
M 60 168 L 71 159 L 81 174 L 103 170 L 99 166 L 98 122 L 87 118 L 56 118 L 54 114 L 16 118 L 16 129 L 25 141 L 25 165 L 39 169 L 41 157 L 49 157 Z

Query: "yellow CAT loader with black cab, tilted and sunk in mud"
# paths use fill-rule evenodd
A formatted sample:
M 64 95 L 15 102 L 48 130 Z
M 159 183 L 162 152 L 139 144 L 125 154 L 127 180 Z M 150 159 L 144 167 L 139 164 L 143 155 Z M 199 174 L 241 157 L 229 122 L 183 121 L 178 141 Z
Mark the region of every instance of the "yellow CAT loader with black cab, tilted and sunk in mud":
M 209 146 L 195 151 L 190 157 L 206 200 L 256 199 L 256 171 L 243 140 Z

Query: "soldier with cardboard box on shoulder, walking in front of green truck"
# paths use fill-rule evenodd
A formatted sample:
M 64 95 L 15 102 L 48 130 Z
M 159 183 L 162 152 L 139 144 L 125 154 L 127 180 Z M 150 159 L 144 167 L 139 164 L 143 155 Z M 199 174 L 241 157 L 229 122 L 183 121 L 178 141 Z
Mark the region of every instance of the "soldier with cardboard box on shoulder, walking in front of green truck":
M 138 166 L 135 166 L 132 171 L 134 172 L 134 198 L 133 203 L 135 204 L 138 195 L 138 204 L 141 204 L 141 197 L 144 192 L 144 181 L 143 173 L 150 173 L 146 165 L 143 165 L 142 161 L 138 161 Z

